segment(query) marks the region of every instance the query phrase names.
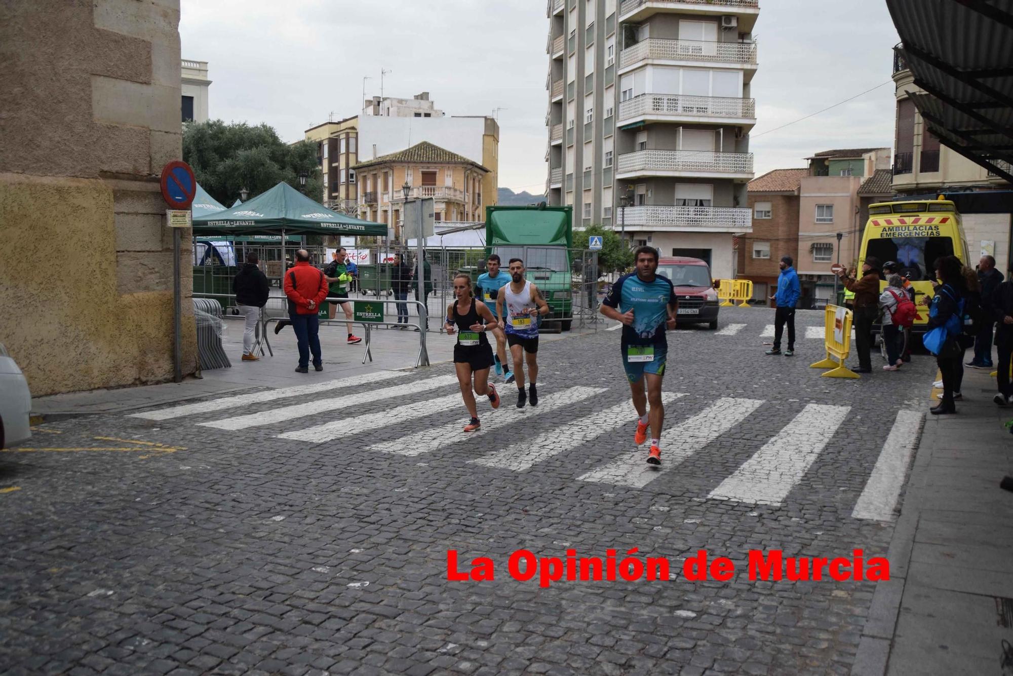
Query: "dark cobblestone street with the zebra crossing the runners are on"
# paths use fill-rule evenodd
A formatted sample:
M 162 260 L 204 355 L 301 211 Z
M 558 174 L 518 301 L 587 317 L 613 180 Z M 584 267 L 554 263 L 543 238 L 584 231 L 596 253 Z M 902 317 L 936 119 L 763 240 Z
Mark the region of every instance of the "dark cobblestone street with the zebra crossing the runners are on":
M 448 363 L 42 425 L 0 454 L 0 671 L 847 674 L 875 583 L 750 581 L 747 554 L 885 554 L 901 484 L 874 468 L 935 365 L 821 378 L 824 314 L 792 358 L 772 320 L 670 333 L 660 470 L 614 330 L 543 344 L 538 407 L 497 378 L 473 435 Z M 506 569 L 634 547 L 672 579 Z M 449 549 L 495 580 L 448 581 Z M 687 581 L 699 549 L 734 578 Z

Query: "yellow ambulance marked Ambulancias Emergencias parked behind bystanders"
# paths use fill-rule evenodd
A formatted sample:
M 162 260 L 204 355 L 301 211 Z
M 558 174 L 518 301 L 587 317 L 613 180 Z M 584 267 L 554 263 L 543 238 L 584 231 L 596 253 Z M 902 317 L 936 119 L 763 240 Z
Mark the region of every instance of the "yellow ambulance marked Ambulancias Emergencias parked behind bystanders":
M 869 205 L 869 220 L 862 233 L 858 269 L 867 256 L 874 256 L 880 264 L 895 261 L 901 275 L 911 280 L 915 290 L 918 318 L 913 326 L 916 332 L 924 331 L 928 321 L 928 308 L 921 305 L 922 297 L 932 297 L 932 282 L 936 272 L 932 268 L 936 258 L 955 255 L 967 265 L 967 240 L 963 233 L 960 214 L 949 200 L 913 200 L 911 202 L 882 202 Z M 879 282 L 879 290 L 886 282 Z M 845 300 L 854 298 L 852 292 Z

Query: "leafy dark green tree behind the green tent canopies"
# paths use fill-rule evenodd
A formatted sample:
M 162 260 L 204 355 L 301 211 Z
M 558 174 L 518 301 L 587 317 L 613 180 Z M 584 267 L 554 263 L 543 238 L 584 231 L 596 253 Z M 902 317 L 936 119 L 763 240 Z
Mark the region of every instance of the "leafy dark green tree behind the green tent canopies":
M 299 141 L 288 144 L 267 125 L 226 124 L 221 120 L 189 123 L 183 129 L 183 160 L 193 168 L 197 180 L 225 206 L 239 197 L 243 187 L 250 197 L 285 181 L 299 187 L 305 171 L 305 195 L 317 202 L 323 196 L 323 177 L 318 144 Z

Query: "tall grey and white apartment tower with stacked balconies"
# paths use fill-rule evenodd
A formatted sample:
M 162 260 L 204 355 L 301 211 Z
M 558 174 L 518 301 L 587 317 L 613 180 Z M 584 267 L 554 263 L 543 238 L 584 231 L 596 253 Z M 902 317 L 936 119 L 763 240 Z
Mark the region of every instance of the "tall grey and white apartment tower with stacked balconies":
M 550 204 L 716 277 L 750 231 L 758 0 L 550 0 Z

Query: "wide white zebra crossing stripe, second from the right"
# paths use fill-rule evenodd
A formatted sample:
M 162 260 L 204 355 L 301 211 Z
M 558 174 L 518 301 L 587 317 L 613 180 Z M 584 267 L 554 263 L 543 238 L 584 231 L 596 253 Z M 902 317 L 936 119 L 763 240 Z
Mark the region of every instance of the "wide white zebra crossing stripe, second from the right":
M 844 422 L 851 406 L 810 403 L 710 492 L 709 498 L 779 505 Z

